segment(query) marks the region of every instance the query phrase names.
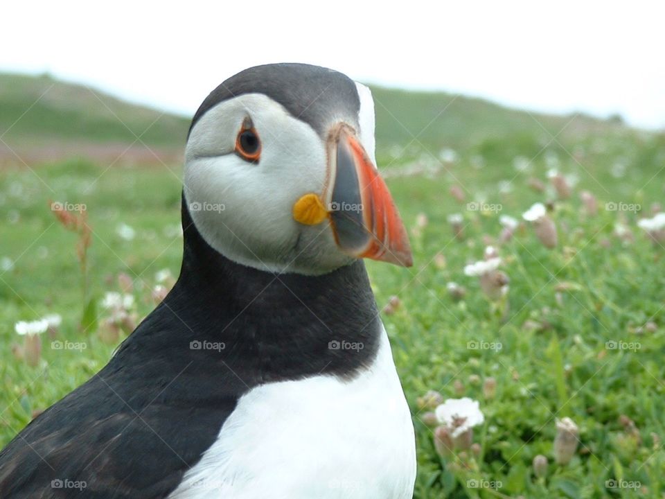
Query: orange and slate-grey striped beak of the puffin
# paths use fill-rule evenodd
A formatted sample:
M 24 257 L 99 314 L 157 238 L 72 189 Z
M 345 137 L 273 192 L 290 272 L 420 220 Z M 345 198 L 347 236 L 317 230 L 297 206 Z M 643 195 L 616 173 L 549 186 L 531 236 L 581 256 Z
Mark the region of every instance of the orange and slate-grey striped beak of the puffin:
M 409 238 L 395 202 L 348 125 L 332 130 L 328 162 L 328 215 L 339 249 L 356 258 L 411 267 Z

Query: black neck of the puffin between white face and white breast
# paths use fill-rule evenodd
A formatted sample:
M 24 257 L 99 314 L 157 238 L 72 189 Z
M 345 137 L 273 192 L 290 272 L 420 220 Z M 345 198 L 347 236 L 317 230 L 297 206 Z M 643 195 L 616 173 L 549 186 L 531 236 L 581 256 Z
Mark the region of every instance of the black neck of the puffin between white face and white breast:
M 182 224 L 180 276 L 153 313 L 177 315 L 179 338 L 223 342 L 212 360 L 258 376 L 256 383 L 348 377 L 371 364 L 382 327 L 362 261 L 321 276 L 265 272 L 215 251 L 185 202 Z

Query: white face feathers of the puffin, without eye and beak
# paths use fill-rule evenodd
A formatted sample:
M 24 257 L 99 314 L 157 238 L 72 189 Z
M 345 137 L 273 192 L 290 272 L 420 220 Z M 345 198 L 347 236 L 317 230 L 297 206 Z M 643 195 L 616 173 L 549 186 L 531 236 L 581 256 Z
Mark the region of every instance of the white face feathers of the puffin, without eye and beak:
M 369 89 L 359 87 L 364 130 L 358 132 L 373 159 L 373 101 Z M 260 140 L 257 162 L 236 152 L 247 119 Z M 270 272 L 323 274 L 353 258 L 337 248 L 328 220 L 302 225 L 292 210 L 301 196 L 321 192 L 327 176 L 326 141 L 310 125 L 263 94 L 242 94 L 211 108 L 191 130 L 184 195 L 204 240 L 232 261 Z

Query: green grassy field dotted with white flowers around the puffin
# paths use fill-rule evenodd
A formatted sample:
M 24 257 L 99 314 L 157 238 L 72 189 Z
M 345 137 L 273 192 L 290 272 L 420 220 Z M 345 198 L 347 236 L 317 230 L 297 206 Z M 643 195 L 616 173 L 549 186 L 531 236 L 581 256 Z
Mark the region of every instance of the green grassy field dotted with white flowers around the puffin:
M 411 231 L 414 267 L 368 268 L 380 306 L 400 299 L 383 319 L 416 425 L 415 497 L 665 497 L 665 243 L 637 227 L 664 198 L 665 138 L 445 94 L 375 95 L 378 161 Z M 436 105 L 420 112 L 427 102 Z M 177 276 L 181 166 L 107 166 L 71 160 L 0 170 L 0 445 L 105 365 L 124 334 L 103 341 L 105 312 L 98 306 L 93 321 L 87 304 L 120 290 L 118 274 L 133 281 L 139 317 L 154 307 L 156 274 Z M 569 198 L 553 191 L 552 169 L 567 177 Z M 533 179 L 546 191 L 532 189 Z M 585 211 L 581 191 L 595 195 L 597 214 Z M 85 204 L 86 297 L 77 236 L 56 220 L 51 200 Z M 499 240 L 500 216 L 521 220 L 534 202 L 547 201 L 556 247 L 544 247 L 527 222 Z M 463 237 L 448 222 L 454 213 Z M 617 225 L 630 236 L 617 235 Z M 487 245 L 510 279 L 503 301 L 487 299 L 479 279 L 463 272 Z M 451 296 L 452 281 L 463 297 Z M 62 315 L 62 325 L 54 338 L 42 335 L 33 367 L 16 358 L 24 339 L 14 324 L 47 313 Z M 484 389 L 490 377 L 494 394 Z M 475 428 L 477 445 L 436 453 L 429 409 L 418 403 L 428 390 L 479 401 L 485 421 Z M 557 464 L 553 441 L 563 417 L 579 434 L 570 462 Z M 536 477 L 539 454 L 549 464 Z

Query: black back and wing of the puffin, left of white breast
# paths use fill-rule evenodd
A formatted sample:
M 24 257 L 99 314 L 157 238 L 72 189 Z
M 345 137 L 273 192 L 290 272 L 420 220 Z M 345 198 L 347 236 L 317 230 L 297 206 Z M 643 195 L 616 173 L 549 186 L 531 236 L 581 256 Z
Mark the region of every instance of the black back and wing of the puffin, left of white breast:
M 100 373 L 0 452 L 0 498 L 152 499 L 177 487 L 246 387 L 187 335 L 174 340 L 162 319 L 156 310 Z

